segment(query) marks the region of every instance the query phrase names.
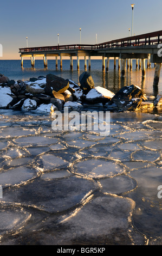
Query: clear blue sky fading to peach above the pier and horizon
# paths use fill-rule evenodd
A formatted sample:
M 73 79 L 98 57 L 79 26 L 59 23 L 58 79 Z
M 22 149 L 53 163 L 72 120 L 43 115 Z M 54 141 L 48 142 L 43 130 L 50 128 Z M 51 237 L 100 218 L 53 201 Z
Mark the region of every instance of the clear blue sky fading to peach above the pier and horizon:
M 1 1 L 3 57 L 19 59 L 18 48 L 28 46 L 95 44 L 128 36 L 134 3 L 133 33 L 162 29 L 161 0 L 5 0 Z

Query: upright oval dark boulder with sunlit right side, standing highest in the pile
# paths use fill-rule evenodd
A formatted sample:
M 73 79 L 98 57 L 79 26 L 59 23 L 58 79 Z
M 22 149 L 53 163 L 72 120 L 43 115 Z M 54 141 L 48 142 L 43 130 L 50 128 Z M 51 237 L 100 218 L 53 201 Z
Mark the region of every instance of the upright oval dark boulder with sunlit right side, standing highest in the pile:
M 91 89 L 94 88 L 94 81 L 92 76 L 86 71 L 83 72 L 79 77 L 80 88 L 84 94 L 87 94 Z

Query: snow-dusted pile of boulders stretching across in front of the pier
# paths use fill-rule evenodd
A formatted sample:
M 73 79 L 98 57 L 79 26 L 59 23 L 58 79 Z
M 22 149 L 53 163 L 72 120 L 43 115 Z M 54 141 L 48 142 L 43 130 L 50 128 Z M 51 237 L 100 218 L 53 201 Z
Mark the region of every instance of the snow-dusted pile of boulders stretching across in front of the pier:
M 79 109 L 83 106 L 102 106 L 112 111 L 137 111 L 162 106 L 162 95 L 148 96 L 132 84 L 116 94 L 106 88 L 95 87 L 92 76 L 83 72 L 79 83 L 53 74 L 32 77 L 29 81 L 9 80 L 0 75 L 0 108 L 23 111 L 53 112 L 63 107 Z

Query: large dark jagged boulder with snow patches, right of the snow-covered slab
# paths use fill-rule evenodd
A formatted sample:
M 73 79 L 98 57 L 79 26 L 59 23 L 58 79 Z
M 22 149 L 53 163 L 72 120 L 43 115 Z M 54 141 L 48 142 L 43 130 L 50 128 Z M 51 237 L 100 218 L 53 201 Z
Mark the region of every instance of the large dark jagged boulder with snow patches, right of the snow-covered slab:
M 112 97 L 112 101 L 118 105 L 118 102 L 120 104 L 120 101 L 130 101 L 135 98 L 147 99 L 142 90 L 138 86 L 132 84 L 131 86 L 121 88 L 119 92 Z

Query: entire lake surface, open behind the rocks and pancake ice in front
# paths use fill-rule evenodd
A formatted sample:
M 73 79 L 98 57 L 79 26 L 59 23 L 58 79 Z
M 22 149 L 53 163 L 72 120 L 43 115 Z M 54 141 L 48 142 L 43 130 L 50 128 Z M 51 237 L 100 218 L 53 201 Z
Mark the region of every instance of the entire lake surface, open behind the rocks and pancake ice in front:
M 77 82 L 84 71 L 70 71 L 68 60 L 62 71 L 52 60 L 48 70 L 41 60 L 35 69 L 28 60 L 24 69 L 19 60 L 0 65 L 15 81 L 52 72 Z M 141 70 L 121 79 L 113 62 L 108 73 L 101 65 L 92 60 L 96 86 L 134 83 L 154 95 L 153 67 L 142 80 Z M 51 115 L 32 111 L 0 109 L 0 118 L 1 245 L 161 245 L 161 111 L 112 112 L 105 137 L 54 131 Z

